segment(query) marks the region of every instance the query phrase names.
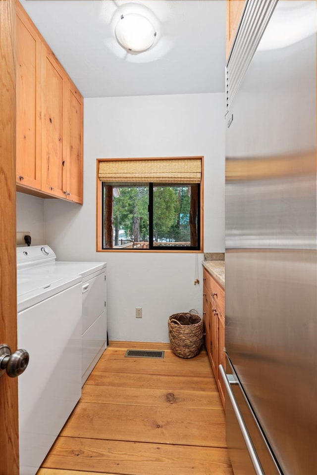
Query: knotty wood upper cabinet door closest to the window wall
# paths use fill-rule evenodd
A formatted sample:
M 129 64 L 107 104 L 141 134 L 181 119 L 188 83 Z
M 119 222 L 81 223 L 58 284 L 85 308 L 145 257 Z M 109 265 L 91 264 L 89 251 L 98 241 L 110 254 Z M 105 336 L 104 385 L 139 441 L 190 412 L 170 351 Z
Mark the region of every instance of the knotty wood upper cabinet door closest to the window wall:
M 83 99 L 71 85 L 67 90 L 66 140 L 66 191 L 67 198 L 83 203 Z

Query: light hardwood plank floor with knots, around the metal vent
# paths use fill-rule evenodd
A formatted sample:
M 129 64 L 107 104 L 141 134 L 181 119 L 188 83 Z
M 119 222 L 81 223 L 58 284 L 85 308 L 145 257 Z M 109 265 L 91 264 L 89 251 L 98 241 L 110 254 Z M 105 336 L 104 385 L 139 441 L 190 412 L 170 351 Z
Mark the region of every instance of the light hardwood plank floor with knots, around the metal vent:
M 164 359 L 125 358 L 127 348 Z M 37 475 L 233 475 L 205 351 L 110 342 Z

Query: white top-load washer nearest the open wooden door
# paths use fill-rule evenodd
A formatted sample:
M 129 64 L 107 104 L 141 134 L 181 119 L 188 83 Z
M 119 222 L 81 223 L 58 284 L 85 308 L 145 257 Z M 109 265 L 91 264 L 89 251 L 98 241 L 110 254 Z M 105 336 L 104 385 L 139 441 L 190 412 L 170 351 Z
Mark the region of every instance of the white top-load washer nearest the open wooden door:
M 30 355 L 18 379 L 20 475 L 37 472 L 81 395 L 81 278 L 33 275 L 34 256 L 17 249 L 17 339 Z

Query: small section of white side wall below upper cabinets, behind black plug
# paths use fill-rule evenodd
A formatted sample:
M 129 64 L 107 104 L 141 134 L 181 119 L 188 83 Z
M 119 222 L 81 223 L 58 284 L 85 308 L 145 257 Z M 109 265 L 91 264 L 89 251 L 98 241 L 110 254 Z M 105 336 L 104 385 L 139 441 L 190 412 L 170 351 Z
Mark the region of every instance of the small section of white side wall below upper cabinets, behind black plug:
M 16 231 L 29 231 L 32 245 L 45 244 L 44 199 L 16 193 Z

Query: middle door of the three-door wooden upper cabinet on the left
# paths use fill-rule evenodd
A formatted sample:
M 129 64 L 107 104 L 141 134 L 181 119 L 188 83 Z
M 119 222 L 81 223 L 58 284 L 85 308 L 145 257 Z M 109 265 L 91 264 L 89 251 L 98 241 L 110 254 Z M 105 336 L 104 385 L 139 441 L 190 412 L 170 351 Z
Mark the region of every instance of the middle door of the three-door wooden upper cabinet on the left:
M 66 197 L 63 140 L 68 79 L 52 51 L 42 44 L 42 190 Z

